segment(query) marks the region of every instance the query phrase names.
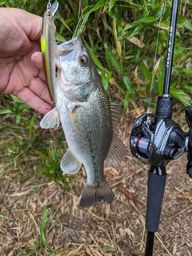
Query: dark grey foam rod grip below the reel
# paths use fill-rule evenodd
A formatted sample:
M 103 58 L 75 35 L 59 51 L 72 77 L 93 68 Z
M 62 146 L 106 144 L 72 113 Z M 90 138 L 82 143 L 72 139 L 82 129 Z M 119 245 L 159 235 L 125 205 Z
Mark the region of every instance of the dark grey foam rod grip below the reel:
M 165 186 L 166 174 L 158 175 L 149 172 L 146 206 L 146 230 L 153 233 L 158 231 Z

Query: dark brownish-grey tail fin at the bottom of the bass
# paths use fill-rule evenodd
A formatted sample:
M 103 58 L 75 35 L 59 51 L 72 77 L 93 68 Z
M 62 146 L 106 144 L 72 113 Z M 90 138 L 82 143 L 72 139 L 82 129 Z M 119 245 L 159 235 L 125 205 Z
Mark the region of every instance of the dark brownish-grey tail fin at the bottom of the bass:
M 82 197 L 80 206 L 90 207 L 97 202 L 110 204 L 114 200 L 114 193 L 110 186 L 105 181 L 104 185 L 95 188 L 94 186 L 86 184 L 82 190 Z

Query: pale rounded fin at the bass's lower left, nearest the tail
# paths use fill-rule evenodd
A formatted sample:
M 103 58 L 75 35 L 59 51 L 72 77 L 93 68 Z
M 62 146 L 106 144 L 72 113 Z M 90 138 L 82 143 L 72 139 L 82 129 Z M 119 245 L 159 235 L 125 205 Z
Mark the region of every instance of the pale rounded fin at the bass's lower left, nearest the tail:
M 75 157 L 74 154 L 70 151 L 70 148 L 67 148 L 64 156 L 62 157 L 60 166 L 62 172 L 67 174 L 74 174 L 78 173 L 78 171 L 81 169 L 82 163 L 78 161 L 77 157 Z

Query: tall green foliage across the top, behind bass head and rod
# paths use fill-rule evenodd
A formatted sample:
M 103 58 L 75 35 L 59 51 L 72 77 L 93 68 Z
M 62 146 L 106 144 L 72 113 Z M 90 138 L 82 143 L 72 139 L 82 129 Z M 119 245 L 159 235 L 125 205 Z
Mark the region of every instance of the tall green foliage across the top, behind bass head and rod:
M 155 102 L 157 96 L 162 94 L 172 1 L 58 2 L 55 19 L 57 38 L 63 42 L 82 34 L 86 47 L 101 72 L 106 91 L 113 87 L 118 98 L 124 99 L 125 109 L 129 108 L 130 100 L 140 99 L 146 104 L 150 91 L 151 102 Z M 46 4 L 46 0 L 6 0 L 2 5 L 42 15 Z M 170 85 L 170 93 L 174 99 L 185 106 L 191 103 L 192 90 L 191 8 L 189 1 L 182 1 L 178 9 L 174 68 Z

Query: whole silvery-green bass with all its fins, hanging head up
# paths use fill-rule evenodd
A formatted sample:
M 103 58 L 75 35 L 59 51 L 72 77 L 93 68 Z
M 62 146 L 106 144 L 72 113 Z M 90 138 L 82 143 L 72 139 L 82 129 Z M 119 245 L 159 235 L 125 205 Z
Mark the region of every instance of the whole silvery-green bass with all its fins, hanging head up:
M 126 155 L 126 146 L 114 134 L 121 106 L 109 101 L 90 52 L 81 36 L 58 45 L 55 107 L 40 122 L 41 128 L 62 123 L 68 148 L 60 163 L 64 173 L 86 169 L 86 185 L 80 206 L 114 201 L 114 193 L 104 176 L 104 161 L 118 165 Z

